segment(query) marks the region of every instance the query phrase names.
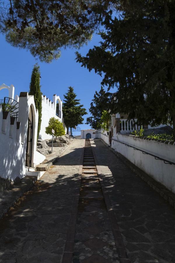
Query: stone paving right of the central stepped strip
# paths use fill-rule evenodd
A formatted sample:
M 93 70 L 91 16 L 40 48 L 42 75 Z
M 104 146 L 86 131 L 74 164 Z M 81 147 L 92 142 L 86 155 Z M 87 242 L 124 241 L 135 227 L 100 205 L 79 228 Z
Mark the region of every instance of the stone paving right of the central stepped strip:
M 100 140 L 91 145 L 130 261 L 174 263 L 175 210 Z

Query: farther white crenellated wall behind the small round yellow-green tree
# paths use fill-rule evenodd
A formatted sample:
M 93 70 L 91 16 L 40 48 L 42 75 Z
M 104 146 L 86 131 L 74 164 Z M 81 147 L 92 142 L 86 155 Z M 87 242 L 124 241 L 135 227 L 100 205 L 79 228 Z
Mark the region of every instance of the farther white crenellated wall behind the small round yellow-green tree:
M 56 104 L 57 103 L 59 103 L 59 110 L 61 111 L 61 118 L 57 117 L 56 115 Z M 53 102 L 49 100 L 49 98 L 46 98 L 46 96 L 42 96 L 42 118 L 41 118 L 40 137 L 43 140 L 52 138 L 51 135 L 46 134 L 45 132 L 46 127 L 48 126 L 49 120 L 52 117 L 55 117 L 59 121 L 63 122 L 63 126 L 65 127 L 63 116 L 62 116 L 62 101 L 60 100 L 60 97 L 57 96 L 56 94 L 53 96 Z

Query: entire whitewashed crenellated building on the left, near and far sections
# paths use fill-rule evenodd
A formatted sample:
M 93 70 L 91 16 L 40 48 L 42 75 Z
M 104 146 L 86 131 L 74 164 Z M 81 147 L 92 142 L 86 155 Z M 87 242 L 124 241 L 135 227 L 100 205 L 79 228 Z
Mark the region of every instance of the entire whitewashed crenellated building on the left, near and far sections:
M 21 92 L 14 98 L 14 86 L 2 84 L 2 89 L 8 89 L 8 97 L 0 101 L 0 178 L 14 180 L 24 177 L 27 167 L 35 167 L 46 158 L 36 151 L 38 110 L 35 107 L 34 96 Z M 42 97 L 42 121 L 40 137 L 49 139 L 45 133 L 49 119 L 55 117 L 63 122 L 62 101 L 56 94 L 51 102 Z M 3 111 L 2 105 L 14 106 L 11 112 Z M 57 103 L 59 106 L 57 106 Z M 64 125 L 65 126 L 65 125 Z

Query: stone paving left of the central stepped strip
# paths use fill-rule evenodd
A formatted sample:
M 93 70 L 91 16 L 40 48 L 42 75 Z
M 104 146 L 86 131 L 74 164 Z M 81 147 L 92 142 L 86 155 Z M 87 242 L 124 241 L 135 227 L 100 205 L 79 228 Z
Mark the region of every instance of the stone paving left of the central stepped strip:
M 0 221 L 0 262 L 62 261 L 84 140 L 75 140 Z

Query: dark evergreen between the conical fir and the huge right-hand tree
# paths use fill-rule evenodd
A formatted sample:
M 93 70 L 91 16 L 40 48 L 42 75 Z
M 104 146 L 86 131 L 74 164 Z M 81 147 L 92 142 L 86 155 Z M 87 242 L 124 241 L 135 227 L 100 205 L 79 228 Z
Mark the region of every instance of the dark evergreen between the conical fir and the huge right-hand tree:
M 95 91 L 94 98 L 90 104 L 89 111 L 92 116 L 87 118 L 86 124 L 93 129 L 101 129 L 101 116 L 104 110 L 109 110 L 110 93 L 101 87 L 99 93 Z

